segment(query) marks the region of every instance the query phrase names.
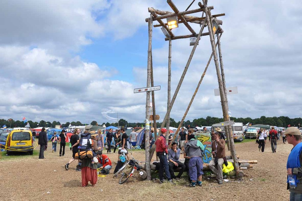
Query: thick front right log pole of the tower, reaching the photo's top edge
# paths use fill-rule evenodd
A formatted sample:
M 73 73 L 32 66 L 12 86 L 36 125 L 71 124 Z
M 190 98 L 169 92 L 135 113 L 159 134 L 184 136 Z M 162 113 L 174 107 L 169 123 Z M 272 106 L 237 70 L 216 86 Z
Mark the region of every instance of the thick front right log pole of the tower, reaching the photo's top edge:
M 210 33 L 210 41 L 211 41 L 211 46 L 212 46 L 212 51 L 213 51 L 213 56 L 214 56 L 214 62 L 215 62 L 215 68 L 216 68 L 216 72 L 217 72 L 217 79 L 218 79 L 218 85 L 219 85 L 219 92 L 220 92 L 220 99 L 221 99 L 221 105 L 222 105 L 222 109 L 224 110 L 224 113 L 226 114 L 226 116 L 228 117 L 227 119 L 229 119 L 229 115 L 227 110 L 227 107 L 225 105 L 225 96 L 224 96 L 224 92 L 223 92 L 223 85 L 222 85 L 222 80 L 221 80 L 221 75 L 220 75 L 220 69 L 219 69 L 219 63 L 218 63 L 218 58 L 217 58 L 217 51 L 216 51 L 216 46 L 215 46 L 215 41 L 214 41 L 214 35 L 213 35 L 213 27 L 211 26 L 211 16 L 208 13 L 208 9 L 207 9 L 207 0 L 202 0 L 203 4 L 204 4 L 204 13 L 206 15 L 206 20 L 207 20 L 207 25 L 208 25 L 208 30 Z M 234 168 L 236 171 L 236 176 L 237 178 L 241 178 L 244 174 L 243 172 L 239 170 L 239 165 L 238 165 L 238 161 L 237 161 L 237 157 L 236 157 L 236 150 L 235 150 L 235 144 L 234 144 L 234 140 L 233 137 L 230 138 L 230 149 L 231 149 L 231 155 L 233 157 L 234 160 Z

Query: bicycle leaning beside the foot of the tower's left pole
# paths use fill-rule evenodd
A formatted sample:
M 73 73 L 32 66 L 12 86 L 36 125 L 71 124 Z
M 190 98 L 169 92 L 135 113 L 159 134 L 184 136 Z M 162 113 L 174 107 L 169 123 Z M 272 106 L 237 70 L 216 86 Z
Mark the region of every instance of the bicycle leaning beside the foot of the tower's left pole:
M 129 151 L 130 152 L 130 151 Z M 113 177 L 117 177 L 117 175 L 119 173 L 121 173 L 122 171 L 124 171 L 124 169 L 126 167 L 132 166 L 132 170 L 130 171 L 130 173 L 122 173 L 120 180 L 119 180 L 119 184 L 125 183 L 130 177 L 132 177 L 133 173 L 135 170 L 140 172 L 140 176 L 146 176 L 146 172 L 145 171 L 140 171 L 140 169 L 142 169 L 139 165 L 140 161 L 136 160 L 135 158 L 133 158 L 132 156 L 132 152 L 131 153 L 131 157 L 132 159 L 130 159 L 127 163 L 125 163 L 114 175 Z

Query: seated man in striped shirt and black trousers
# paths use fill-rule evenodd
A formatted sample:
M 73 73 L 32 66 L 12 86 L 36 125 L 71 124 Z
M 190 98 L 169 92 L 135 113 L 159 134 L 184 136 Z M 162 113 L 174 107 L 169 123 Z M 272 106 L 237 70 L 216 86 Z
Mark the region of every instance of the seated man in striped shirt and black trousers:
M 180 148 L 177 148 L 176 142 L 172 143 L 171 148 L 168 150 L 168 161 L 169 161 L 169 171 L 171 174 L 171 179 L 179 180 L 182 173 L 185 171 L 185 164 L 179 161 Z M 174 174 L 174 169 L 180 168 L 177 177 Z

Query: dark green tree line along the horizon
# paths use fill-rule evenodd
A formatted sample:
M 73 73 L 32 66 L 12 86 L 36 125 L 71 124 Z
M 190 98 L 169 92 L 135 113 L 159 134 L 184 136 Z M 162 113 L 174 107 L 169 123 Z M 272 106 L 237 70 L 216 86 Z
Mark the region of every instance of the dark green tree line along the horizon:
M 243 124 L 247 123 L 252 123 L 252 125 L 255 124 L 266 124 L 266 125 L 271 125 L 271 126 L 278 126 L 278 127 L 288 127 L 290 126 L 297 126 L 300 127 L 299 124 L 302 123 L 302 118 L 289 118 L 288 116 L 279 116 L 279 117 L 265 117 L 261 116 L 260 118 L 255 118 L 252 119 L 250 117 L 246 118 L 236 118 L 236 117 L 230 117 L 230 120 L 233 120 L 234 122 L 242 122 Z M 194 119 L 192 122 L 190 120 L 184 121 L 182 126 L 212 126 L 214 123 L 220 123 L 223 122 L 223 118 L 218 118 L 218 117 L 212 117 L 212 116 L 207 116 L 206 118 L 199 118 L 199 119 Z M 54 128 L 56 125 L 62 126 L 62 128 L 66 128 L 69 125 L 72 126 L 85 126 L 86 124 L 81 123 L 80 121 L 72 121 L 72 122 L 66 122 L 61 124 L 59 121 L 53 121 L 52 123 L 50 121 L 44 121 L 41 120 L 40 122 L 33 122 L 31 120 L 28 121 L 29 125 L 31 128 L 36 128 L 36 127 L 52 127 Z M 7 128 L 11 127 L 24 127 L 27 123 L 24 123 L 23 121 L 19 120 L 13 120 L 11 121 L 5 120 L 5 119 L 0 119 L 0 126 L 1 128 L 3 125 L 6 125 Z M 127 126 L 127 127 L 140 127 L 144 126 L 145 123 L 128 123 L 127 120 L 120 119 L 118 123 L 98 123 L 97 121 L 92 121 L 90 123 L 91 125 L 99 125 L 102 126 L 105 124 L 106 127 L 108 126 Z M 161 126 L 162 123 L 157 122 L 156 123 L 158 127 Z M 170 118 L 170 126 L 171 127 L 178 127 L 180 124 L 180 121 L 176 122 L 173 118 Z

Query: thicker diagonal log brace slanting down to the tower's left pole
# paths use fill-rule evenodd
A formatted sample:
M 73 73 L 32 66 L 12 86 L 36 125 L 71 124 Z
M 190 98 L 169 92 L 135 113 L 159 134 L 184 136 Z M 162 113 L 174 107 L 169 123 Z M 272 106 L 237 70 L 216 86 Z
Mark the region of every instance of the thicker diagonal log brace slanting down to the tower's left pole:
M 177 85 L 176 89 L 175 89 L 174 95 L 173 95 L 173 97 L 172 97 L 172 99 L 171 99 L 171 102 L 170 102 L 170 104 L 169 104 L 169 108 L 168 108 L 168 110 L 167 110 L 167 112 L 166 112 L 166 114 L 165 114 L 165 117 L 164 117 L 164 119 L 163 119 L 163 121 L 162 121 L 162 125 L 160 126 L 159 131 L 164 127 L 164 125 L 165 125 L 165 123 L 166 123 L 166 121 L 167 121 L 168 115 L 169 115 L 170 112 L 171 112 L 171 109 L 172 109 L 172 107 L 173 107 L 174 101 L 175 101 L 175 99 L 176 99 L 176 97 L 177 97 L 177 94 L 178 94 L 178 91 L 179 91 L 179 89 L 180 89 L 180 87 L 181 87 L 181 85 L 182 85 L 182 81 L 183 81 L 184 78 L 185 78 L 186 72 L 187 72 L 187 70 L 188 70 L 188 68 L 189 68 L 189 65 L 190 65 L 190 63 L 191 63 L 191 60 L 192 60 L 192 58 L 193 58 L 193 55 L 194 55 L 194 53 L 195 53 L 195 49 L 196 49 L 197 44 L 198 44 L 198 42 L 199 42 L 199 40 L 200 40 L 200 36 L 201 36 L 201 33 L 202 33 L 203 30 L 204 30 L 204 24 L 203 24 L 203 26 L 201 26 L 201 29 L 200 29 L 200 31 L 199 31 L 197 40 L 196 40 L 196 42 L 195 42 L 195 44 L 194 44 L 194 46 L 193 46 L 193 48 L 192 48 L 191 54 L 190 54 L 190 56 L 189 56 L 189 59 L 188 59 L 187 64 L 186 64 L 186 66 L 185 66 L 185 69 L 184 69 L 184 71 L 182 72 L 182 76 L 181 76 L 181 78 L 180 78 L 180 80 L 179 80 L 179 82 L 178 82 L 178 85 Z M 150 152 L 150 158 L 153 157 L 154 151 L 155 151 L 155 148 L 152 147 L 151 152 Z

